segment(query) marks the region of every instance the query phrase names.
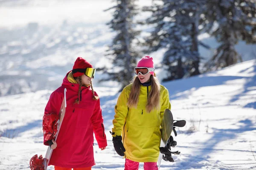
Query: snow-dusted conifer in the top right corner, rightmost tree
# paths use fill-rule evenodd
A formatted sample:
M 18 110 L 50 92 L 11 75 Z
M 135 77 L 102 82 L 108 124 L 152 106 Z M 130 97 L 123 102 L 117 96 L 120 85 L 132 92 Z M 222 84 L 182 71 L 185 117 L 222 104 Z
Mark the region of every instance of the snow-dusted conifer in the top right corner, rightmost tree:
M 207 70 L 217 70 L 241 62 L 235 45 L 239 40 L 256 42 L 255 0 L 207 0 L 202 25 L 220 45 L 206 63 Z

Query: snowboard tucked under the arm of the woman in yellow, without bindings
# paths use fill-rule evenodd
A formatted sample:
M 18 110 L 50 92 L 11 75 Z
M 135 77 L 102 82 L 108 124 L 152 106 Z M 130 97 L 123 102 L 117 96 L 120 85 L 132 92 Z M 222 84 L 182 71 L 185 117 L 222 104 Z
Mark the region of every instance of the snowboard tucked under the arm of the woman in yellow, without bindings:
M 172 128 L 173 128 L 173 116 L 172 116 L 172 112 L 169 109 L 166 109 L 163 113 L 163 119 L 161 122 L 161 143 L 160 143 L 160 147 L 165 147 L 168 139 L 171 136 L 172 133 Z M 158 169 L 160 170 L 160 165 L 161 165 L 161 160 L 163 157 L 163 153 L 159 153 L 159 157 L 158 157 Z

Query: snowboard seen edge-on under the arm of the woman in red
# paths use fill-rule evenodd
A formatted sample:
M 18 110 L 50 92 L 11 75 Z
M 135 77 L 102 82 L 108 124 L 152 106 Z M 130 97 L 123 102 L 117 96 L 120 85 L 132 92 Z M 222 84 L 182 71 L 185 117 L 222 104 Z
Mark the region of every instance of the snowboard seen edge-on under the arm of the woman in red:
M 62 124 L 62 121 L 64 119 L 65 111 L 66 111 L 66 107 L 67 107 L 66 91 L 67 91 L 67 89 L 65 88 L 64 89 L 64 99 L 62 101 L 61 109 L 60 109 L 60 112 L 59 112 L 60 119 L 58 119 L 58 128 L 57 128 L 57 133 L 55 135 L 55 142 L 57 142 L 58 133 L 60 131 L 61 124 Z M 44 157 L 44 170 L 47 170 L 49 161 L 50 161 L 51 156 L 52 156 L 52 151 L 53 151 L 53 149 L 50 146 L 48 146 L 47 152 L 46 152 L 45 157 Z

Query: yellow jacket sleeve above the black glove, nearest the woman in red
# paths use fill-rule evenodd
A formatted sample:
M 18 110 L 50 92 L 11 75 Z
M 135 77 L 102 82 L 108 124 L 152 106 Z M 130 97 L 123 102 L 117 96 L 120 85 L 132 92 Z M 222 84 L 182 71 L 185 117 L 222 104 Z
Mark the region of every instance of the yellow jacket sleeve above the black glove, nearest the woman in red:
M 113 128 L 112 128 L 112 136 L 121 136 L 122 127 L 125 124 L 126 116 L 128 113 L 127 106 L 128 96 L 125 93 L 125 88 L 122 90 L 121 94 L 117 99 L 117 103 L 115 106 L 115 116 L 113 119 Z

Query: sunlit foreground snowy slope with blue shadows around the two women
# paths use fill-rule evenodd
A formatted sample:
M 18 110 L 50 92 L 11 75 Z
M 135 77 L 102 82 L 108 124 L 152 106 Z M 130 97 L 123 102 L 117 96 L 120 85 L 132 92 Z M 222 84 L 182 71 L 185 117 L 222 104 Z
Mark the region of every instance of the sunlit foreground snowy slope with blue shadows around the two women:
M 163 85 L 169 90 L 174 119 L 186 119 L 187 125 L 177 128 L 174 137 L 174 150 L 181 154 L 173 156 L 174 163 L 162 161 L 161 170 L 256 169 L 256 60 Z M 101 99 L 108 147 L 100 151 L 95 140 L 93 169 L 123 170 L 125 159 L 115 153 L 108 133 L 118 89 L 95 90 Z M 0 170 L 28 170 L 32 156 L 44 156 L 41 121 L 51 92 L 0 97 Z

